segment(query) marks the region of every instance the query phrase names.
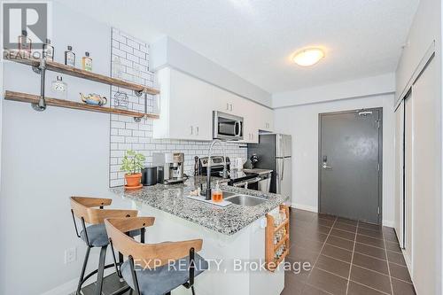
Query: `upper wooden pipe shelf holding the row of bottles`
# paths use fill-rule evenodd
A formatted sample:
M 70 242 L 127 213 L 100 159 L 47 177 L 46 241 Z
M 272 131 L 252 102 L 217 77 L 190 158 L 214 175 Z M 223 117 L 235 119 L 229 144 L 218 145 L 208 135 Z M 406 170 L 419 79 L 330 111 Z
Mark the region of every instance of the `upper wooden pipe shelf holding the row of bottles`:
M 4 53 L 4 58 L 28 66 L 35 66 L 35 67 L 40 66 L 40 59 L 33 58 L 25 51 L 7 50 Z M 94 82 L 101 82 L 108 85 L 118 86 L 124 89 L 131 89 L 141 93 L 148 93 L 152 95 L 157 95 L 160 93 L 158 89 L 152 89 L 144 85 L 139 85 L 132 82 L 126 82 L 120 79 L 111 78 L 103 74 L 84 71 L 82 69 L 73 66 L 66 66 L 64 64 L 60 64 L 58 62 L 51 60 L 46 60 L 46 70 L 61 74 L 69 74 L 77 78 L 87 79 Z

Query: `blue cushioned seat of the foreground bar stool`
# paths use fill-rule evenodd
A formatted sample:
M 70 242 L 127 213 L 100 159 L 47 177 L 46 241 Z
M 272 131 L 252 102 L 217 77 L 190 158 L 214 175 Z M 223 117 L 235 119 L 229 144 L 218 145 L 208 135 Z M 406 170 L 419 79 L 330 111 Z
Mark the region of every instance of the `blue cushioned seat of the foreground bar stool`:
M 200 275 L 208 268 L 207 261 L 195 254 L 195 272 L 194 276 Z M 134 288 L 134 280 L 131 274 L 131 267 L 129 260 L 126 260 L 121 265 L 121 275 L 125 279 L 126 283 Z M 166 264 L 159 268 L 142 268 L 136 266 L 136 276 L 138 280 L 138 286 L 142 295 L 163 295 L 168 291 L 172 291 L 183 283 L 189 281 L 190 273 L 190 258 L 184 257 L 181 260 L 176 260 L 175 263 L 170 265 Z

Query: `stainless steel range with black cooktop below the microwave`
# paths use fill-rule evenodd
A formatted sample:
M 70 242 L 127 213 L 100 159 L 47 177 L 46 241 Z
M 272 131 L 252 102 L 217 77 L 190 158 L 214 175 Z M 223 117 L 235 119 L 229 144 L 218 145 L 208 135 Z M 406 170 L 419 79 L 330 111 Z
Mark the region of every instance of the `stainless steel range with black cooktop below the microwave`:
M 208 166 L 208 157 L 198 159 L 199 175 L 206 175 Z M 221 177 L 223 172 L 224 159 L 223 156 L 212 156 L 211 160 L 211 176 Z M 243 171 L 230 170 L 230 160 L 226 157 L 226 167 L 228 169 L 229 182 L 231 186 L 242 187 L 250 190 L 259 190 L 258 183 L 260 177 L 257 173 L 246 174 Z

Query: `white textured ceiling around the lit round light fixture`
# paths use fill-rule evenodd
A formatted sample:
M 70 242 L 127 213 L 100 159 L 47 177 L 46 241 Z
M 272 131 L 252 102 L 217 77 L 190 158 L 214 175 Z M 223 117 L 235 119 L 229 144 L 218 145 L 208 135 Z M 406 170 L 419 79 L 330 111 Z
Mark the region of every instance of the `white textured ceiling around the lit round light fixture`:
M 419 0 L 60 0 L 147 42 L 169 35 L 270 93 L 391 73 Z M 320 46 L 312 67 L 294 50 Z

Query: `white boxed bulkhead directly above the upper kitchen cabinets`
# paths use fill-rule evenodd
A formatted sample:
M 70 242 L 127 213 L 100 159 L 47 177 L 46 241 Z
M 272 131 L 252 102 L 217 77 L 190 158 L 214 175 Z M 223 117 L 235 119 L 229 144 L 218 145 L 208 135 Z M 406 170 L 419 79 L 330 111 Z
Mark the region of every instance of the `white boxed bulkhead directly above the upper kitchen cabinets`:
M 190 50 L 171 37 L 164 36 L 152 43 L 151 53 L 152 70 L 170 66 L 260 105 L 271 105 L 270 93 L 215 64 L 198 52 Z

